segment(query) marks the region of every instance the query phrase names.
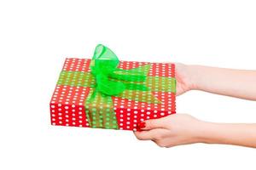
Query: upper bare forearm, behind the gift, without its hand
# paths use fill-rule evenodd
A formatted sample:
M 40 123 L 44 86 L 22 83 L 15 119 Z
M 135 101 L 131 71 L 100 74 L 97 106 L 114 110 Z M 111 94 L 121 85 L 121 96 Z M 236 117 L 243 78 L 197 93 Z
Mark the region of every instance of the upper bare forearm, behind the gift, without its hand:
M 213 94 L 256 100 L 256 71 L 189 65 L 193 88 Z

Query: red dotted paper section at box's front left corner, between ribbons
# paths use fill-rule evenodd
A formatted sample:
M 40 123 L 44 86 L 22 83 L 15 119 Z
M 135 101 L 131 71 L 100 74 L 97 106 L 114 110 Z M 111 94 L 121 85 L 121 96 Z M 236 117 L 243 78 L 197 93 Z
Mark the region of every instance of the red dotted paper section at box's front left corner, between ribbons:
M 90 88 L 56 86 L 50 102 L 52 125 L 89 127 L 84 111 L 84 100 Z

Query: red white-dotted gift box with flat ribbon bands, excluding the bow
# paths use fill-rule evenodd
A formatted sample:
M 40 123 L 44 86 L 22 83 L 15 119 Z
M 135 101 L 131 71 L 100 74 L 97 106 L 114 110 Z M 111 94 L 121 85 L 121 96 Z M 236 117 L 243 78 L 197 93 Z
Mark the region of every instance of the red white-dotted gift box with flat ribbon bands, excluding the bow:
M 120 61 L 119 68 L 129 70 L 143 65 L 150 65 L 143 82 L 150 91 L 126 90 L 108 98 L 96 94 L 96 99 L 89 101 L 96 83 L 90 74 L 90 59 L 66 59 L 50 101 L 51 124 L 136 131 L 138 122 L 174 114 L 175 65 Z

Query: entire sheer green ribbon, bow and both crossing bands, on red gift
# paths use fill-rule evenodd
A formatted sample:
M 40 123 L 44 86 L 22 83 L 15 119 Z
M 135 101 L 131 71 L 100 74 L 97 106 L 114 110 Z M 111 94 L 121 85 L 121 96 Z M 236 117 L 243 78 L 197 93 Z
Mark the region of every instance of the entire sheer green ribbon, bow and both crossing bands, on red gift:
M 150 65 L 130 70 L 123 70 L 118 66 L 118 57 L 100 44 L 96 46 L 90 61 L 91 72 L 61 71 L 59 85 L 91 89 L 84 102 L 90 127 L 119 128 L 112 96 L 159 104 L 160 100 L 154 97 L 152 91 L 175 92 L 175 78 L 147 76 Z

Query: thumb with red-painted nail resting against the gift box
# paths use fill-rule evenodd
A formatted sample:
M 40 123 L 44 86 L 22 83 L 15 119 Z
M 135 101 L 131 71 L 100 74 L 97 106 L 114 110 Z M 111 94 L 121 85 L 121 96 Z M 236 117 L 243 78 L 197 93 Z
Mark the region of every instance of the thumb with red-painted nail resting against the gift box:
M 150 119 L 150 120 L 138 123 L 137 126 L 141 130 L 151 130 L 151 129 L 154 129 L 154 128 L 164 128 L 165 127 L 165 123 L 164 123 L 164 119 L 163 118 L 160 118 L 160 119 Z

